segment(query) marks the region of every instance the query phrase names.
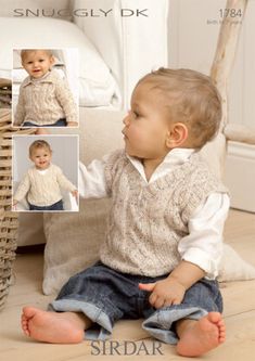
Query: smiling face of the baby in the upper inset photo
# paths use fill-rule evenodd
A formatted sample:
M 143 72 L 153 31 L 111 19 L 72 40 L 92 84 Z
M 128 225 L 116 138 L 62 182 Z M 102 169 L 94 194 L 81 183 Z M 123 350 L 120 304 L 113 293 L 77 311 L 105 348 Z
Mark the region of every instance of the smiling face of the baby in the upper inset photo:
M 46 75 L 54 63 L 51 56 L 44 50 L 28 51 L 22 60 L 22 65 L 33 78 L 41 78 Z

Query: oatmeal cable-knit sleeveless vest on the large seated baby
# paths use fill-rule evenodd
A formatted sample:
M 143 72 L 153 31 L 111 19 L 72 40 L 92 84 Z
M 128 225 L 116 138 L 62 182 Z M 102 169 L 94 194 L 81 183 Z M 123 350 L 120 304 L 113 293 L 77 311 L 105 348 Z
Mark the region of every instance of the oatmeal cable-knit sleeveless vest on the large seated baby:
M 157 276 L 179 262 L 178 242 L 192 211 L 213 192 L 227 192 L 197 153 L 146 183 L 123 151 L 105 167 L 113 206 L 101 260 L 120 272 Z

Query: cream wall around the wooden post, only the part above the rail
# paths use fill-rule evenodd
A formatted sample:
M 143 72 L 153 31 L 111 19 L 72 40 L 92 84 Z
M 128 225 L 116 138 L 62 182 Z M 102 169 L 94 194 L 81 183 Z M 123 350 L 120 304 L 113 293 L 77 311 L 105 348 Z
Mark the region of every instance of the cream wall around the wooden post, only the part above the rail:
M 170 0 L 169 66 L 209 74 L 226 0 Z M 255 1 L 242 24 L 229 87 L 229 121 L 255 124 Z

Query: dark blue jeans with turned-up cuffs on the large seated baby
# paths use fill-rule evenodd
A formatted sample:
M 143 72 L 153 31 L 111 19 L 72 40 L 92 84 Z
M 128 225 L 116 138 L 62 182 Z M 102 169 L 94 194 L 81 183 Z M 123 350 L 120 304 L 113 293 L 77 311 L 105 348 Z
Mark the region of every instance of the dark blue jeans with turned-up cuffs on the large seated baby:
M 149 278 L 126 274 L 98 262 L 72 276 L 50 310 L 82 312 L 94 322 L 86 331 L 87 339 L 106 339 L 119 319 L 144 318 L 142 327 L 157 339 L 176 344 L 175 322 L 180 319 L 199 320 L 209 311 L 222 311 L 222 299 L 217 281 L 202 279 L 190 287 L 180 305 L 154 309 L 150 294 L 138 287 L 167 276 Z

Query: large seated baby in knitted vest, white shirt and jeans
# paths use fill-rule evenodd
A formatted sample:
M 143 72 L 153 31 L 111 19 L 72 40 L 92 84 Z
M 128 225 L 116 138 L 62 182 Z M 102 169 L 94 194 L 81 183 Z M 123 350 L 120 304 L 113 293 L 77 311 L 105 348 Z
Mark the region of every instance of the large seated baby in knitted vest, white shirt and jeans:
M 220 96 L 197 72 L 160 68 L 138 82 L 125 150 L 80 166 L 81 195 L 112 197 L 100 261 L 69 279 L 51 312 L 25 307 L 26 335 L 105 339 L 117 320 L 144 318 L 142 327 L 181 356 L 224 343 L 216 278 L 229 196 L 199 153 L 220 118 Z

